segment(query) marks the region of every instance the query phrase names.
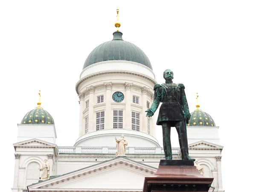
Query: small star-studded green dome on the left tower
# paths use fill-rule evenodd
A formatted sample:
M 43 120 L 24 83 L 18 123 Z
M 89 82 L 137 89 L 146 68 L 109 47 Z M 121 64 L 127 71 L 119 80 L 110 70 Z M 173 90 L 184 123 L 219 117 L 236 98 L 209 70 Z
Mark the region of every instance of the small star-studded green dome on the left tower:
M 47 124 L 54 125 L 52 116 L 42 108 L 35 108 L 23 117 L 21 124 Z

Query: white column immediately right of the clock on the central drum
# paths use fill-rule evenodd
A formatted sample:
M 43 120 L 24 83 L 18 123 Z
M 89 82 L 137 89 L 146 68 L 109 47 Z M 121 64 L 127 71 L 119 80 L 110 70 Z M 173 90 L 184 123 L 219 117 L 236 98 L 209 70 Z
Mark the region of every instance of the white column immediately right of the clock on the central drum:
M 131 129 L 131 86 L 125 82 L 125 129 Z

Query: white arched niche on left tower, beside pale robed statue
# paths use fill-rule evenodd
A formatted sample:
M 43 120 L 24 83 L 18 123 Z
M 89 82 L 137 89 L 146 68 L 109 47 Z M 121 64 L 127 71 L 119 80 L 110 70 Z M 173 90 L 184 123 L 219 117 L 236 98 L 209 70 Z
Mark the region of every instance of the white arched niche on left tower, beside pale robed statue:
M 31 162 L 27 166 L 27 173 L 26 173 L 26 185 L 30 185 L 32 183 L 37 183 L 40 180 L 40 171 L 38 169 L 41 166 L 37 162 Z

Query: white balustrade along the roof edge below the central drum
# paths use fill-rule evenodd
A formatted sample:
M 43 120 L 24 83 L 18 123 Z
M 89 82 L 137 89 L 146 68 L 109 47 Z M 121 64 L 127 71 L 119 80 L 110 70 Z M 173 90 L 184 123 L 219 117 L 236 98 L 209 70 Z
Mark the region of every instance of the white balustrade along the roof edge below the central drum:
M 115 154 L 116 147 L 58 147 L 58 153 Z M 126 154 L 164 154 L 160 147 L 127 147 Z M 180 154 L 180 148 L 172 148 L 172 154 Z

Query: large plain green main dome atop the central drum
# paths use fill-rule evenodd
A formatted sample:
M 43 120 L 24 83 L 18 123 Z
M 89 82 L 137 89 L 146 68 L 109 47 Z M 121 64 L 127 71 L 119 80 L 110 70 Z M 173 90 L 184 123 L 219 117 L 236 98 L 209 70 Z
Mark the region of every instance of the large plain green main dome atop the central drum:
M 145 53 L 136 45 L 122 40 L 121 32 L 113 33 L 113 40 L 100 44 L 88 55 L 84 68 L 101 61 L 134 61 L 149 67 L 151 63 Z

